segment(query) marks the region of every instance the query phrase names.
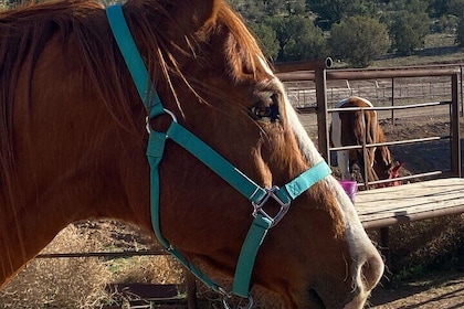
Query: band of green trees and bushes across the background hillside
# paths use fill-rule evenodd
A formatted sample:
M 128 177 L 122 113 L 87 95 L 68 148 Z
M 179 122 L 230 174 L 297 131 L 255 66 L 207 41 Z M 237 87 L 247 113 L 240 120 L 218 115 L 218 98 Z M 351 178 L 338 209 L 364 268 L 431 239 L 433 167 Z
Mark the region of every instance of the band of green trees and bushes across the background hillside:
M 431 31 L 454 34 L 458 20 L 456 17 L 464 18 L 464 0 L 229 0 L 229 2 L 249 21 L 271 60 L 289 61 L 327 56 L 327 45 L 330 45 L 335 53 L 333 56 L 340 56 L 356 66 L 366 66 L 375 55 L 384 53 L 384 46 L 388 44 L 391 46 L 390 51 L 398 54 L 413 54 L 424 46 L 425 36 Z M 362 35 L 355 34 L 358 31 L 356 25 L 344 23 L 349 31 L 344 31 L 339 26 L 333 28 L 341 21 L 346 22 L 349 18 L 359 15 L 380 20 L 386 24 L 390 41 L 387 42 L 383 29 L 369 29 L 370 25 L 363 31 L 379 31 L 381 35 L 377 38 L 362 34 L 368 38 L 365 43 Z M 348 36 L 330 33 L 334 29 Z M 462 30 L 460 31 L 462 33 Z M 458 42 L 464 41 L 461 33 L 457 33 Z M 331 42 L 325 39 L 328 36 L 331 38 Z M 347 42 L 350 40 L 356 41 Z M 347 47 L 351 43 L 355 46 L 363 45 L 365 51 L 354 52 L 352 47 Z

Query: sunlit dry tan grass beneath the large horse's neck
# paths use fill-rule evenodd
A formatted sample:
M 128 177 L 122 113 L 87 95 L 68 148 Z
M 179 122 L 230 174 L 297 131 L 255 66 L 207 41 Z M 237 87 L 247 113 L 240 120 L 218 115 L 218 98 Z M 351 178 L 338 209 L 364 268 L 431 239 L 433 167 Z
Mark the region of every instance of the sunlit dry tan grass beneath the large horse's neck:
M 119 224 L 115 226 L 114 228 L 117 228 Z M 91 232 L 70 225 L 44 252 L 97 252 L 108 246 L 106 242 L 102 243 L 104 237 L 89 236 L 93 234 Z M 96 257 L 36 258 L 0 292 L 0 309 L 102 308 L 125 300 L 120 295 L 109 294 L 107 285 L 110 283 L 182 281 L 182 269 L 168 256 L 136 256 L 106 260 Z

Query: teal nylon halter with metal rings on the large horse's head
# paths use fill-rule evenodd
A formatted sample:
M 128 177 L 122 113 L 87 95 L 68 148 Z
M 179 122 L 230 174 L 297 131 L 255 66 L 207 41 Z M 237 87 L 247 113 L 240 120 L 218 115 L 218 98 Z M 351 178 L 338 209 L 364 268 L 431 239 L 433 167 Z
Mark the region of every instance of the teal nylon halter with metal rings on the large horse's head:
M 247 178 L 240 170 L 234 168 L 221 154 L 205 145 L 202 140 L 177 122 L 172 113 L 162 107 L 161 100 L 156 94 L 155 87 L 145 66 L 144 60 L 134 42 L 130 30 L 124 18 L 123 8 L 116 4 L 107 8 L 106 14 L 113 35 L 119 46 L 120 53 L 126 61 L 134 83 L 139 93 L 140 99 L 147 110 L 147 129 L 149 131 L 147 158 L 150 164 L 150 211 L 151 223 L 159 243 L 165 249 L 179 259 L 193 275 L 202 280 L 207 286 L 224 296 L 224 306 L 228 306 L 228 298 L 236 295 L 249 298 L 249 307 L 253 305 L 250 296 L 250 280 L 253 271 L 257 251 L 266 236 L 267 231 L 281 221 L 288 211 L 291 202 L 313 184 L 330 174 L 330 168 L 321 161 L 293 179 L 282 188 L 273 187 L 271 189 L 262 188 L 253 180 Z M 166 132 L 151 130 L 149 120 L 159 115 L 170 115 L 172 122 Z M 159 217 L 159 172 L 158 167 L 162 159 L 166 140 L 172 140 L 191 154 L 197 157 L 207 167 L 213 170 L 224 181 L 238 190 L 242 195 L 249 199 L 253 204 L 253 223 L 249 230 L 246 238 L 242 245 L 239 256 L 232 291 L 228 292 L 219 284 L 211 280 L 205 274 L 191 265 L 183 255 L 173 247 L 168 239 L 162 236 Z M 268 215 L 263 206 L 268 199 L 274 199 L 281 205 L 280 212 L 275 216 Z

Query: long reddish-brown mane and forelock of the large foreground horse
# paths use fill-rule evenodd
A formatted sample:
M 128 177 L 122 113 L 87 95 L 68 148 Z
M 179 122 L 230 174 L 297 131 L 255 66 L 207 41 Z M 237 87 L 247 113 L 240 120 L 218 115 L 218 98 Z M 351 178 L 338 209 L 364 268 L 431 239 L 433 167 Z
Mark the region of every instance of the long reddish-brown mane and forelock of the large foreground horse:
M 220 89 L 203 85 L 200 78 L 186 76 L 182 73 L 182 60 L 196 61 L 205 67 L 212 66 L 208 58 L 207 39 L 210 34 L 224 33 L 226 54 L 229 60 L 228 73 L 232 81 L 256 78 L 257 72 L 265 72 L 264 61 L 259 44 L 245 29 L 242 20 L 229 6 L 215 1 L 213 12 L 215 17 L 192 33 L 186 32 L 186 26 L 176 22 L 173 6 L 180 6 L 172 0 L 130 0 L 124 4 L 125 14 L 134 33 L 143 57 L 148 66 L 152 81 L 162 79 L 168 85 L 172 96 L 177 99 L 172 77 L 179 77 L 188 88 L 204 102 L 199 95 L 214 94 L 218 102 L 229 102 Z M 190 8 L 191 9 L 191 8 Z M 189 13 L 190 11 L 186 9 Z M 169 23 L 161 22 L 168 21 Z M 159 24 L 157 24 L 159 23 Z M 159 25 L 159 26 L 158 26 Z M 184 39 L 183 45 L 176 45 L 162 29 L 169 26 Z M 172 30 L 172 28 L 176 28 Z M 183 29 L 183 31 L 182 31 Z M 182 32 L 181 32 L 182 31 Z M 225 32 L 228 31 L 228 32 Z M 179 34 L 180 33 L 180 34 Z M 13 103 L 20 74 L 27 74 L 24 92 L 28 105 L 31 104 L 31 87 L 34 66 L 50 40 L 59 38 L 65 53 L 71 53 L 75 63 L 80 63 L 85 78 L 84 88 L 92 88 L 102 100 L 116 121 L 128 131 L 139 131 L 139 124 L 127 100 L 135 97 L 135 87 L 126 64 L 119 55 L 107 20 L 104 7 L 88 0 L 64 0 L 33 3 L 12 10 L 0 12 L 0 188 L 6 190 L 14 178 L 13 150 Z M 70 51 L 71 38 L 74 47 Z M 179 56 L 180 55 L 180 56 Z M 161 68 L 161 70 L 160 70 Z M 118 78 L 108 78 L 117 76 Z M 207 88 L 207 86 L 209 88 Z M 180 103 L 177 100 L 179 110 Z M 140 137 L 141 139 L 141 137 Z M 8 190 L 10 191 L 10 190 Z M 11 194 L 10 194 L 11 195 Z M 11 196 L 10 196 L 11 198 Z

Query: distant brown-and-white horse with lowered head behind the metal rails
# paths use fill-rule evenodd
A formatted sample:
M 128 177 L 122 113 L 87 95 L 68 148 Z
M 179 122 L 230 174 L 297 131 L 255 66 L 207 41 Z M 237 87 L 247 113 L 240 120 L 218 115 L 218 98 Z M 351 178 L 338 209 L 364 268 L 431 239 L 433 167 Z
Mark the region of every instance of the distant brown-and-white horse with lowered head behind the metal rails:
M 360 97 L 350 97 L 337 103 L 336 108 L 372 107 L 372 104 Z M 376 110 L 335 111 L 330 126 L 330 137 L 334 147 L 361 146 L 381 143 L 386 141 L 383 130 L 379 125 Z M 403 164 L 394 163 L 387 146 L 367 147 L 366 156 L 362 149 L 338 150 L 337 161 L 342 180 L 351 180 L 352 166 L 358 162 L 362 177 L 366 179 L 367 164 L 368 181 L 393 179 L 399 177 Z M 387 185 L 398 185 L 390 182 Z M 383 187 L 378 184 L 377 187 Z

